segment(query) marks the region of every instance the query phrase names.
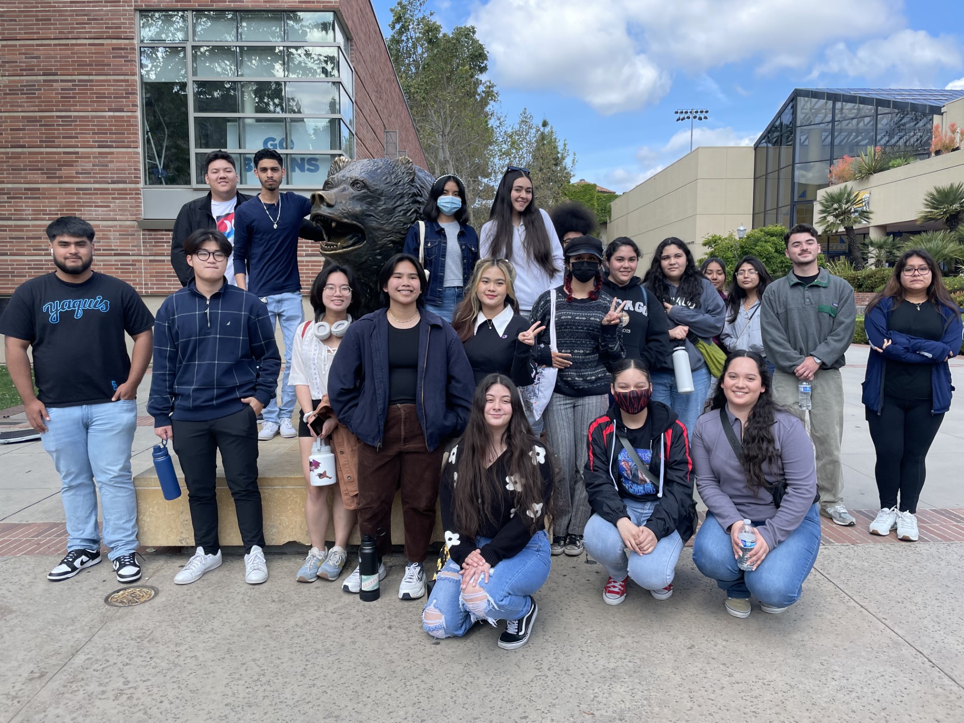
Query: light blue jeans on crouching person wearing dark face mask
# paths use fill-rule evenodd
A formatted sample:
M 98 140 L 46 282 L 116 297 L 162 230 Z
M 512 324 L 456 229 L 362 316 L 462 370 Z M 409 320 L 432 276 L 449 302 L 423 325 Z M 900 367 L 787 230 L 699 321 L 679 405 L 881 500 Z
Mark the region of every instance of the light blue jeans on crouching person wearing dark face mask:
M 656 502 L 637 502 L 634 499 L 624 499 L 626 510 L 629 512 L 629 522 L 642 525 L 653 514 Z M 593 515 L 586 522 L 583 543 L 586 551 L 594 560 L 599 562 L 614 580 L 632 578 L 642 588 L 647 590 L 662 590 L 673 583 L 676 576 L 676 563 L 683 551 L 683 538 L 673 530 L 656 543 L 656 549 L 649 554 L 641 555 L 629 552 L 627 557 L 626 544 L 615 524 L 603 520 L 599 515 Z

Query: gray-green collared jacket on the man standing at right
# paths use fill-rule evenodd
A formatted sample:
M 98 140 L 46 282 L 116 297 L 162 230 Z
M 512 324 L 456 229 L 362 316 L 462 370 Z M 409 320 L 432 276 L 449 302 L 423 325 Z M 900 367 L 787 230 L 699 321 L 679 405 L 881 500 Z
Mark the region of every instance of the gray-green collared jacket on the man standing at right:
M 826 269 L 804 286 L 791 271 L 763 292 L 763 349 L 766 360 L 792 374 L 807 357 L 817 357 L 821 369 L 839 369 L 853 341 L 857 305 L 853 287 Z

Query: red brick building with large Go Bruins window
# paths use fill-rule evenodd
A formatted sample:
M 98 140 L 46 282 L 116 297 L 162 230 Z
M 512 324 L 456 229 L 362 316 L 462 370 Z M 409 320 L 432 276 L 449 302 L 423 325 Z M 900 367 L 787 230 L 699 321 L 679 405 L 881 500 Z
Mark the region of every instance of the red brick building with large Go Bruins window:
M 179 288 L 170 229 L 207 192 L 210 149 L 256 190 L 254 151 L 276 147 L 282 190 L 306 194 L 336 155 L 426 165 L 369 0 L 33 0 L 4 13 L 0 73 L 2 300 L 51 270 L 43 228 L 74 214 L 95 268 L 156 308 Z M 301 255 L 308 287 L 320 257 Z

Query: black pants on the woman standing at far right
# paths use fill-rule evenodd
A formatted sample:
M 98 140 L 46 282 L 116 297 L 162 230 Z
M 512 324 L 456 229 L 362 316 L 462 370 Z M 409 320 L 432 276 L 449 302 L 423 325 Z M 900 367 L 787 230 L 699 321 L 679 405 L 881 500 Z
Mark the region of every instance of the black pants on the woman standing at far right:
M 877 415 L 868 410 L 870 439 L 877 450 L 877 491 L 880 506 L 897 506 L 901 512 L 917 512 L 917 500 L 924 488 L 924 460 L 930 443 L 944 421 L 944 415 L 930 414 L 931 400 L 897 399 L 884 395 Z

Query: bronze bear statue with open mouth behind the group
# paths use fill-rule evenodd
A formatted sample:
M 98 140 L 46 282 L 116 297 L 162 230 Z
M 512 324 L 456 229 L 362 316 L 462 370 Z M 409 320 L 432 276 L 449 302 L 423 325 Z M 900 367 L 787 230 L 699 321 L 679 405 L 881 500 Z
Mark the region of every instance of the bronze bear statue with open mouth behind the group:
M 338 156 L 321 191 L 311 194 L 308 218 L 325 235 L 319 251 L 355 272 L 364 312 L 379 307 L 378 274 L 388 258 L 402 251 L 434 182 L 411 158 L 353 161 Z

